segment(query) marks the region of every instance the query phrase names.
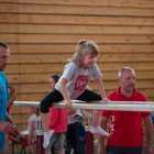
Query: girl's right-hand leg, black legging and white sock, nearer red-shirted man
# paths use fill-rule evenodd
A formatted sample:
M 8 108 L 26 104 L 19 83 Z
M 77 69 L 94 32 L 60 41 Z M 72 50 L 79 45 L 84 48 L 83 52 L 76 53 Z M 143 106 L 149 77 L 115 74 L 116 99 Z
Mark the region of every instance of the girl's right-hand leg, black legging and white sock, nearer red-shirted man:
M 85 89 L 85 91 L 77 98 L 77 100 L 92 101 L 92 100 L 102 100 L 102 98 L 100 95 L 96 94 L 95 91 Z M 99 127 L 100 116 L 101 116 L 101 111 L 94 110 L 94 122 L 90 132 L 94 134 L 109 136 L 109 134 Z

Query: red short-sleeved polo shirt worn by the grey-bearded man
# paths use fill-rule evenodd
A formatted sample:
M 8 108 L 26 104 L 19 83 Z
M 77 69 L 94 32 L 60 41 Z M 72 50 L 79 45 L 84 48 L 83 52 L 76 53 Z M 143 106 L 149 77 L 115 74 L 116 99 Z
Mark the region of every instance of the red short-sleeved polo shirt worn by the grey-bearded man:
M 120 92 L 120 87 L 111 92 L 108 98 L 111 101 L 147 101 L 144 94 L 135 88 L 130 98 Z M 107 118 L 111 116 L 108 145 L 121 147 L 143 146 L 142 118 L 151 116 L 151 112 L 103 110 L 101 116 Z

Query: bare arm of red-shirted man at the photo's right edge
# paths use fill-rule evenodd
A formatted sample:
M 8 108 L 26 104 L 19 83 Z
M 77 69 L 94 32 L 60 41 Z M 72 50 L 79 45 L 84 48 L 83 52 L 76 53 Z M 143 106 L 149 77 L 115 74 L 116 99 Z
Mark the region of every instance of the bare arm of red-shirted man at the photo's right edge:
M 153 154 L 153 123 L 151 116 L 144 117 L 145 134 L 147 139 L 147 146 L 145 148 L 145 154 Z

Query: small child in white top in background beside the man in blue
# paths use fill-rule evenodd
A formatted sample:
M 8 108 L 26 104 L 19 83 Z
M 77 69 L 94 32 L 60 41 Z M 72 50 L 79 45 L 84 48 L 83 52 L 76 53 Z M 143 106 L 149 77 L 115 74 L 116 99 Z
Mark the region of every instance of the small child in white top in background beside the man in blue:
M 33 141 L 35 140 L 35 133 L 36 133 L 36 129 L 37 129 L 37 118 L 35 114 L 35 108 L 32 107 L 26 107 L 26 112 L 28 114 L 30 114 L 31 117 L 29 118 L 29 139 L 28 139 L 28 144 L 31 145 L 31 152 L 32 154 L 34 154 L 35 150 L 33 148 Z

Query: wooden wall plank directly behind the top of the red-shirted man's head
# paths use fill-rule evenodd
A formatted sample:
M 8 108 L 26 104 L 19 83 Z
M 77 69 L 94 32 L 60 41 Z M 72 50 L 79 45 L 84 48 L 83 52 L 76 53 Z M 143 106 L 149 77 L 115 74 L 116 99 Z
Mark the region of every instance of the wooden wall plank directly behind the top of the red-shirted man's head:
M 66 64 L 20 64 L 20 73 L 63 73 Z M 122 67 L 130 66 L 135 70 L 154 70 L 154 63 L 98 63 L 101 72 L 119 72 Z M 9 67 L 9 66 L 8 66 Z M 38 69 L 37 69 L 38 68 Z

